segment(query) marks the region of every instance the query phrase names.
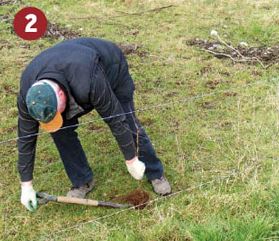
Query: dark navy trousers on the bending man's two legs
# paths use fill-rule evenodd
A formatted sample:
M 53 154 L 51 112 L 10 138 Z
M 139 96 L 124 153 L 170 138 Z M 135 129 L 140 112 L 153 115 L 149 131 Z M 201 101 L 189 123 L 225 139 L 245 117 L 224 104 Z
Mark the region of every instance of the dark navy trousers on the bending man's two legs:
M 145 130 L 140 125 L 134 113 L 134 103 L 121 103 L 126 118 L 133 134 L 135 145 L 138 146 L 139 160 L 146 166 L 145 175 L 148 180 L 160 178 L 163 175 L 163 166 L 156 156 L 155 150 Z M 64 122 L 64 126 L 78 124 L 77 119 Z M 76 133 L 77 126 L 65 128 L 52 133 L 51 136 L 60 153 L 66 173 L 74 187 L 79 187 L 93 179 L 93 172 L 87 162 L 86 155 Z M 137 131 L 138 130 L 138 131 Z M 138 134 L 137 134 L 138 133 Z M 137 143 L 138 142 L 138 143 Z

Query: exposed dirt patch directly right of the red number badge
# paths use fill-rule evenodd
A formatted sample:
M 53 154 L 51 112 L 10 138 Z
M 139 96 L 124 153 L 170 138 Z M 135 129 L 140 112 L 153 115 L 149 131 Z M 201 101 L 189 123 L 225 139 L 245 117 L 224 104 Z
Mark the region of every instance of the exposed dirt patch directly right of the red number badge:
M 50 37 L 54 39 L 73 39 L 80 37 L 80 34 L 57 23 L 48 22 L 45 37 Z

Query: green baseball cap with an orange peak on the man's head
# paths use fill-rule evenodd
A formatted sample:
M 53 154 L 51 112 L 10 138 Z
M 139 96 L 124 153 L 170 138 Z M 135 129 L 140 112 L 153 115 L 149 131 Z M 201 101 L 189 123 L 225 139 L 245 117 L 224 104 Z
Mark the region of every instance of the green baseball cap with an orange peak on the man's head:
M 48 132 L 55 132 L 63 125 L 63 118 L 57 111 L 57 95 L 50 81 L 40 80 L 28 90 L 26 105 L 29 114 Z

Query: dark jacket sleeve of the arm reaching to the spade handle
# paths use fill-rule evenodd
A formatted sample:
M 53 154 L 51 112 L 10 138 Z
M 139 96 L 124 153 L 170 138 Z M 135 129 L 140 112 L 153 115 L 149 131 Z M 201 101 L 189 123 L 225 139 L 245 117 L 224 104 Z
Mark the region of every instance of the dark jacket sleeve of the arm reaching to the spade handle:
M 21 94 L 17 99 L 18 107 L 18 171 L 22 182 L 33 179 L 35 151 L 39 123 L 29 114 Z

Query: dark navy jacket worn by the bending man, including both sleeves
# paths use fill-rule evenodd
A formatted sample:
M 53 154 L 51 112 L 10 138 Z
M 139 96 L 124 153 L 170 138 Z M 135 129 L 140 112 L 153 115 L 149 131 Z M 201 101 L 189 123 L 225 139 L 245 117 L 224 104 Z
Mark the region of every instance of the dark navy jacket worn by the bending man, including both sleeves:
M 64 119 L 77 118 L 96 109 L 109 125 L 125 159 L 136 155 L 132 134 L 119 103 L 131 101 L 134 91 L 121 50 L 100 39 L 67 40 L 40 53 L 21 76 L 18 94 L 18 170 L 21 181 L 33 178 L 39 126 L 29 115 L 25 99 L 28 89 L 41 79 L 56 81 L 65 90 Z

